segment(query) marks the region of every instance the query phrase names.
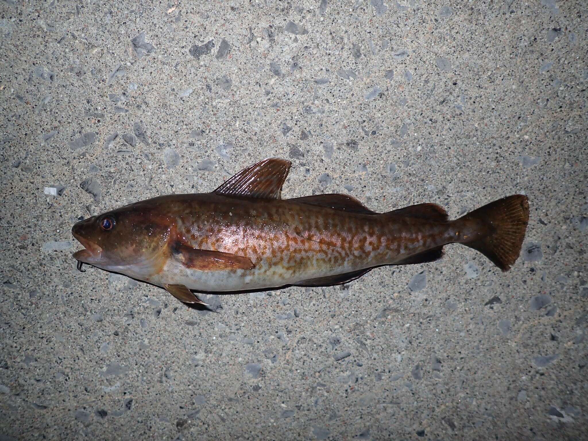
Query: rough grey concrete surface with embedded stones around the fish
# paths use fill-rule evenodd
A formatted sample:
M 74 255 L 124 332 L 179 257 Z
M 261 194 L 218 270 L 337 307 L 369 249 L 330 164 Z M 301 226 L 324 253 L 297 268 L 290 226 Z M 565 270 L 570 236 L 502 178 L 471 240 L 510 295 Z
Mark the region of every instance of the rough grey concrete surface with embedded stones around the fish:
M 0 439 L 586 439 L 587 14 L 2 1 Z M 524 256 L 447 246 L 214 312 L 75 270 L 76 219 L 271 155 L 285 196 L 378 211 L 524 192 Z

